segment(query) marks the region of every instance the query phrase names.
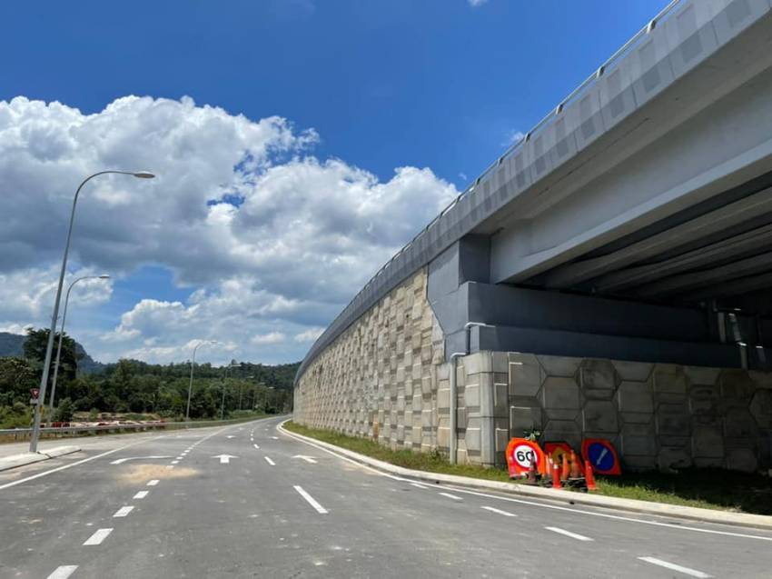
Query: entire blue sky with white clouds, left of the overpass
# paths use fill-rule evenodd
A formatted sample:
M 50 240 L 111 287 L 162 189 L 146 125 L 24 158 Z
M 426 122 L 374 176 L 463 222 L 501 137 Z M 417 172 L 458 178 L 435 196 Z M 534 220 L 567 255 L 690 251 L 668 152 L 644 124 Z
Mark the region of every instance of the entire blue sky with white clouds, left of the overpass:
M 302 359 L 649 0 L 0 4 L 0 331 L 96 360 Z

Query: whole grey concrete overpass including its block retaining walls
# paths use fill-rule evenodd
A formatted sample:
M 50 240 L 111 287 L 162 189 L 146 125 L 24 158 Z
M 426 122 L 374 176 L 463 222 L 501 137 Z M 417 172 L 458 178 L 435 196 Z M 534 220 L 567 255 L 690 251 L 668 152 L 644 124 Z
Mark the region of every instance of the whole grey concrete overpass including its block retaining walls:
M 362 288 L 296 418 L 495 464 L 770 465 L 772 12 L 672 2 Z

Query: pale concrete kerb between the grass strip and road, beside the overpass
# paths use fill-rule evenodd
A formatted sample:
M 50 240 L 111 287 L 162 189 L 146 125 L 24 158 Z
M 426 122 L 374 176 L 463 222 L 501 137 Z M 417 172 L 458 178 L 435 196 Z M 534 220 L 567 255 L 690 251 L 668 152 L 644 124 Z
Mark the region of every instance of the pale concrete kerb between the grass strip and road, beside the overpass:
M 288 422 L 288 421 L 284 421 Z M 304 436 L 302 434 L 292 433 L 283 428 L 283 424 L 278 425 L 282 434 L 301 440 L 309 444 L 316 444 L 326 448 L 334 453 L 341 454 L 351 460 L 371 466 L 381 472 L 396 474 L 401 477 L 410 478 L 416 481 L 455 484 L 458 486 L 470 487 L 474 489 L 484 489 L 489 491 L 498 491 L 507 494 L 519 494 L 531 498 L 549 500 L 560 504 L 586 504 L 603 508 L 627 511 L 641 514 L 656 514 L 658 516 L 675 517 L 687 519 L 689 521 L 700 521 L 702 523 L 731 524 L 737 526 L 751 526 L 761 529 L 772 529 L 772 516 L 763 514 L 744 514 L 728 513 L 727 511 L 711 511 L 693 506 L 681 506 L 678 504 L 653 503 L 648 501 L 638 501 L 636 499 L 623 499 L 616 496 L 603 496 L 599 494 L 584 494 L 571 491 L 559 491 L 550 488 L 541 488 L 539 486 L 526 486 L 516 483 L 501 483 L 499 481 L 487 481 L 484 479 L 470 478 L 469 476 L 458 476 L 456 474 L 428 473 L 415 471 L 395 464 L 385 463 L 364 454 L 354 453 L 353 451 L 335 446 L 334 444 L 324 443 L 315 438 Z

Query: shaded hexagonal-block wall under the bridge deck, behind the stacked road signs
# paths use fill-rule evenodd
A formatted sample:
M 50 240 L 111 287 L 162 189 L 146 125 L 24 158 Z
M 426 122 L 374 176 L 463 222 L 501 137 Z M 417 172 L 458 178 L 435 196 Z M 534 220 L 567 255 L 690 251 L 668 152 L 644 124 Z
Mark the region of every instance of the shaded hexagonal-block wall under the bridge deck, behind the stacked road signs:
M 582 438 L 609 438 L 632 470 L 772 465 L 772 374 L 503 355 L 512 436 L 537 429 L 543 441 L 565 440 L 575 448 Z

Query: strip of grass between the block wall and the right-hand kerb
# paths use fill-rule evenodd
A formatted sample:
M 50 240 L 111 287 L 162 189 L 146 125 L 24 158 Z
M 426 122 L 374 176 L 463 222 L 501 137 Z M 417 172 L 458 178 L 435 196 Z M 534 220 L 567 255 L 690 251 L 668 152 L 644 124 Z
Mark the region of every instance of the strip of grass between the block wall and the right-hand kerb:
M 492 481 L 512 482 L 504 468 L 483 468 L 472 464 L 450 464 L 438 453 L 391 450 L 369 438 L 349 436 L 331 430 L 309 428 L 292 421 L 287 430 L 335 444 L 355 453 L 427 473 L 458 474 Z M 596 476 L 598 492 L 639 501 L 682 504 L 749 514 L 772 514 L 772 481 L 760 474 L 721 469 L 688 469 L 678 474 L 658 472 Z

